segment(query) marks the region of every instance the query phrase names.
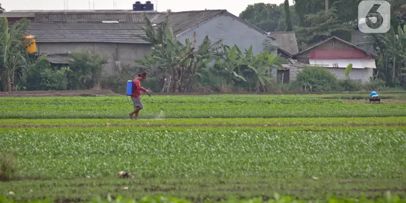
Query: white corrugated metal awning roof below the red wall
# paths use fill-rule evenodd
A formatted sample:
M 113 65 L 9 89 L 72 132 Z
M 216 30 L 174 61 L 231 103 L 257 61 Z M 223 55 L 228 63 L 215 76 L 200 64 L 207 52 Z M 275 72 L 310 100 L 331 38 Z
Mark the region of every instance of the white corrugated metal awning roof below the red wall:
M 353 69 L 376 69 L 374 59 L 309 59 L 311 65 L 321 65 L 326 67 L 337 67 L 345 69 L 348 64 L 352 63 Z

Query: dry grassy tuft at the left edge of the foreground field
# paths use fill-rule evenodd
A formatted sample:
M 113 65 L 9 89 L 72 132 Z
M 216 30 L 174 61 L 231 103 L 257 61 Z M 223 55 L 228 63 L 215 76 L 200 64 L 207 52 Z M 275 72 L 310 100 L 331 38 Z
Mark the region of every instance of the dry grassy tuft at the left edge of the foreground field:
M 10 181 L 16 178 L 17 159 L 12 154 L 0 152 L 0 181 Z

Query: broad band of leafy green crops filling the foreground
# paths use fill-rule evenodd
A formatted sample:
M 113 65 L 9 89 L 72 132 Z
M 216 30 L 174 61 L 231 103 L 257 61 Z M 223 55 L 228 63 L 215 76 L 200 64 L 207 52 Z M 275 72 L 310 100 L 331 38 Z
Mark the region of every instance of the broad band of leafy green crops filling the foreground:
M 3 128 L 23 177 L 404 178 L 406 130 Z

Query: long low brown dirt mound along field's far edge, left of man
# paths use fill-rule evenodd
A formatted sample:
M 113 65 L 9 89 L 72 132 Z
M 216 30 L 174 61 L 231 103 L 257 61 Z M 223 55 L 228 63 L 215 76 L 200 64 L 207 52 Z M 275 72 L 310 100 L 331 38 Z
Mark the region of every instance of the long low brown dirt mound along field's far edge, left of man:
M 32 96 L 114 96 L 119 95 L 111 90 L 65 90 L 65 91 L 15 91 L 0 92 L 0 97 L 32 97 Z

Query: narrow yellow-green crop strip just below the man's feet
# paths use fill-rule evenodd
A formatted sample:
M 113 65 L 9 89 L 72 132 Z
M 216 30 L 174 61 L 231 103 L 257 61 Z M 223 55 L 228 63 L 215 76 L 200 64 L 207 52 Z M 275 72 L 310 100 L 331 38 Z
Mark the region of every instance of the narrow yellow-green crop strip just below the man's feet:
M 180 118 L 180 119 L 0 119 L 0 127 L 96 127 L 96 126 L 403 126 L 406 117 L 364 118 Z

